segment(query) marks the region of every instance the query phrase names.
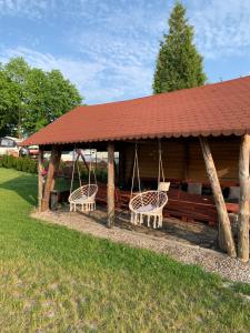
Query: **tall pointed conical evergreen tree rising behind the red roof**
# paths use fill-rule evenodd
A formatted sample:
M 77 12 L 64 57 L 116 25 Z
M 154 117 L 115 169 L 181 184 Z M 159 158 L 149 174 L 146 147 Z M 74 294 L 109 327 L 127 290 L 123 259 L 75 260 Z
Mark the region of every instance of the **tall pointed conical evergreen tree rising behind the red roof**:
M 153 93 L 204 84 L 202 57 L 193 44 L 193 27 L 179 2 L 169 18 L 169 33 L 163 36 L 153 78 Z

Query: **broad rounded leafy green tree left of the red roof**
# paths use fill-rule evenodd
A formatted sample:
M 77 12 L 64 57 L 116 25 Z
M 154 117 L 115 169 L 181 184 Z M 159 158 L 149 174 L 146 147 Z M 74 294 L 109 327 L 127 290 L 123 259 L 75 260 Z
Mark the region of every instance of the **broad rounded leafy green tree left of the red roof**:
M 81 104 L 59 70 L 31 68 L 22 58 L 0 67 L 0 134 L 30 134 Z

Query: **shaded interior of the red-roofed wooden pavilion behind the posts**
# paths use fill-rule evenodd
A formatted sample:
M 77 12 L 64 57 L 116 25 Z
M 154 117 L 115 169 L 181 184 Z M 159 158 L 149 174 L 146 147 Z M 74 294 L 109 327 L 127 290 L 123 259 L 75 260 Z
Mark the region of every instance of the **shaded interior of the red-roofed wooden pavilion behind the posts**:
M 240 139 L 237 137 L 210 138 L 211 150 L 218 167 L 220 185 L 227 210 L 237 236 L 237 220 L 239 210 L 238 160 Z M 168 203 L 163 210 L 161 229 L 148 228 L 147 223 L 132 225 L 130 223 L 129 201 L 131 199 L 131 180 L 134 161 L 134 148 L 138 147 L 140 164 L 141 190 L 157 189 L 159 140 L 128 140 L 113 144 L 113 182 L 114 182 L 114 218 L 112 224 L 141 233 L 173 239 L 194 245 L 219 250 L 218 212 L 212 195 L 211 185 L 206 174 L 204 162 L 198 138 L 162 139 L 162 161 L 166 180 L 170 182 Z M 96 196 L 97 210 L 82 214 L 94 223 L 107 224 L 108 203 L 108 147 L 107 142 L 76 145 L 62 145 L 61 162 L 54 174 L 54 189 L 50 194 L 50 209 L 54 213 L 68 213 L 70 185 L 79 186 L 77 168 L 73 172 L 72 161 L 63 161 L 64 153 L 81 149 L 84 161 L 79 159 L 81 182 L 88 183 L 88 169 L 94 169 L 98 183 Z M 52 147 L 44 147 L 50 152 Z M 46 162 L 48 164 L 48 162 Z M 93 181 L 93 175 L 91 180 Z M 138 192 L 138 180 L 134 180 L 133 195 Z

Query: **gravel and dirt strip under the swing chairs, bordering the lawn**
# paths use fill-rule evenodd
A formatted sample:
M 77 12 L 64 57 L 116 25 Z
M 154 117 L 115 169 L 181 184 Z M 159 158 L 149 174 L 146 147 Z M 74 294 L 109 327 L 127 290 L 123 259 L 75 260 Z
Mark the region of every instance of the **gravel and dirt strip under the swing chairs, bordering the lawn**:
M 162 230 L 152 230 L 130 224 L 128 213 L 121 211 L 117 214 L 116 226 L 108 229 L 103 208 L 89 214 L 70 213 L 68 208 L 63 208 L 56 212 L 34 212 L 32 216 L 97 238 L 166 253 L 180 262 L 198 264 L 226 279 L 250 283 L 250 263 L 242 263 L 214 251 L 218 249 L 217 230 L 201 223 L 164 219 Z

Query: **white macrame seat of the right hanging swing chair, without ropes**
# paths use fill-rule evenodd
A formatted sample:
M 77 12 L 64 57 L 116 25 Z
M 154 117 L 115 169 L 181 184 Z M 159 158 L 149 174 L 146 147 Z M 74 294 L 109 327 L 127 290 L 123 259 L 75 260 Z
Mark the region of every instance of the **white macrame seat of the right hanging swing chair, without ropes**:
M 162 228 L 162 210 L 168 202 L 168 195 L 162 191 L 147 191 L 130 200 L 131 223 L 142 224 L 147 218 L 148 226 L 153 220 L 153 229 Z

